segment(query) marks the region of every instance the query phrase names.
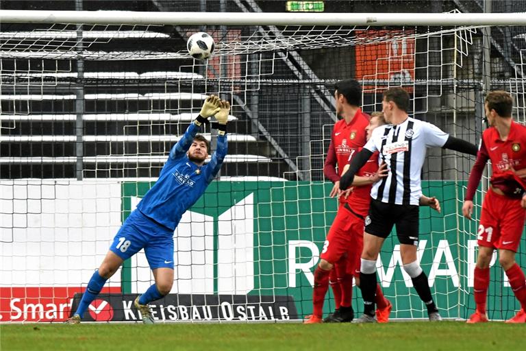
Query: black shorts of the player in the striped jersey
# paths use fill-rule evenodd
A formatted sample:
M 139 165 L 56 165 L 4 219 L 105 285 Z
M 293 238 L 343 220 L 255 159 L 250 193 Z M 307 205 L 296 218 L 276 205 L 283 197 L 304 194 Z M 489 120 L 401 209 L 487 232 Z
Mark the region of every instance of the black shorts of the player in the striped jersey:
M 396 226 L 401 244 L 418 245 L 419 208 L 417 205 L 386 204 L 371 199 L 369 215 L 365 219 L 365 232 L 385 239 L 392 226 Z

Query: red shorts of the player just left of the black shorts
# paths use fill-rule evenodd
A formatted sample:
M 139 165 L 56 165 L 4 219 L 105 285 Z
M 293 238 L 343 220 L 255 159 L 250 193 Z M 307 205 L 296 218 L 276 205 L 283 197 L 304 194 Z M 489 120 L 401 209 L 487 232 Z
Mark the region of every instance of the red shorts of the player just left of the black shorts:
M 360 258 L 364 247 L 364 219 L 340 205 L 332 222 L 320 258 L 335 264 L 347 255 L 347 274 L 360 271 Z

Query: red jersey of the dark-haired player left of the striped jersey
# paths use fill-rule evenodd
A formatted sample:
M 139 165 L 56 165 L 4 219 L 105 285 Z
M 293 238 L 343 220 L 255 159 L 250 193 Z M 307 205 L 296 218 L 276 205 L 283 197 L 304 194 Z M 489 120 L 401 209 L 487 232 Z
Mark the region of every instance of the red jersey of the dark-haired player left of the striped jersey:
M 340 180 L 342 169 L 347 165 L 349 158 L 365 145 L 367 136 L 365 128 L 370 118 L 368 114 L 358 109 L 349 123 L 341 119 L 334 124 L 323 167 L 323 173 L 331 182 Z M 338 173 L 336 173 L 336 163 L 338 163 Z

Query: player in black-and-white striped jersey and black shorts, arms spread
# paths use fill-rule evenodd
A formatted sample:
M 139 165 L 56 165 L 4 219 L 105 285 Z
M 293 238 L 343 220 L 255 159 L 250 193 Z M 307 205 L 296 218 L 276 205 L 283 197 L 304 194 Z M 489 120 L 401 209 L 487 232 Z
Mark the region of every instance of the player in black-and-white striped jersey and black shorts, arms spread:
M 431 123 L 408 116 L 409 94 L 402 88 L 384 92 L 382 106 L 388 125 L 373 132 L 364 149 L 352 160 L 349 171 L 340 179 L 343 191 L 374 152 L 379 162 L 388 165 L 388 176 L 373 185 L 371 207 L 365 220 L 364 250 L 360 266 L 360 289 L 364 315 L 355 322 L 376 322 L 376 261 L 384 240 L 396 226 L 403 269 L 411 277 L 418 296 L 425 303 L 429 320 L 442 318 L 431 296 L 427 276 L 416 256 L 418 247 L 418 206 L 422 195 L 421 171 L 427 147 L 442 147 L 466 154 L 477 154 L 477 147 L 454 138 Z

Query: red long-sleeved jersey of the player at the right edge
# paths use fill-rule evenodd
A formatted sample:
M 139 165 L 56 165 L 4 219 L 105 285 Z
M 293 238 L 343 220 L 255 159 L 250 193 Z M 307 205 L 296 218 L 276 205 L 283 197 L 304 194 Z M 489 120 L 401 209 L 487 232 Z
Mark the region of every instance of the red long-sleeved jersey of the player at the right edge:
M 526 127 L 512 121 L 510 134 L 506 141 L 501 141 L 497 128 L 488 128 L 482 133 L 482 141 L 477 161 L 473 165 L 466 192 L 466 200 L 472 200 L 479 184 L 482 171 L 488 159 L 491 160 L 491 184 L 505 195 L 522 197 L 526 182 L 518 178 L 513 171 L 526 168 Z

